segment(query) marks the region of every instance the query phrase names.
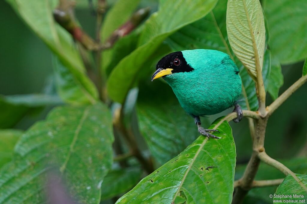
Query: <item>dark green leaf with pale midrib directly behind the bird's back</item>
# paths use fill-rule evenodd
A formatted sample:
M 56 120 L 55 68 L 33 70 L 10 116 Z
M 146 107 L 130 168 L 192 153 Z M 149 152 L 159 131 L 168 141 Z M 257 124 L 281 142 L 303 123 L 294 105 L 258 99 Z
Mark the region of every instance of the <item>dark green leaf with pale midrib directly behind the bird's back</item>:
M 235 60 L 240 69 L 242 78 L 242 94 L 239 97 L 239 104 L 243 109 L 258 109 L 258 99 L 256 96 L 255 83 L 248 75 L 242 63 L 233 54 L 227 38 L 226 31 L 226 8 L 227 0 L 220 0 L 210 15 L 178 30 L 169 36 L 166 42 L 172 47 L 173 51 L 186 49 L 214 49 L 227 53 Z M 262 76 L 265 87 L 269 87 L 268 81 L 272 84 L 280 78 L 270 77 L 270 53 L 265 53 Z M 275 73 L 275 70 L 273 70 Z M 274 75 L 273 75 L 274 76 Z M 276 75 L 276 77 L 282 77 Z M 274 81 L 274 83 L 273 83 Z M 268 86 L 267 86 L 268 85 Z M 276 93 L 276 90 L 274 90 Z M 278 93 L 278 90 L 277 90 Z

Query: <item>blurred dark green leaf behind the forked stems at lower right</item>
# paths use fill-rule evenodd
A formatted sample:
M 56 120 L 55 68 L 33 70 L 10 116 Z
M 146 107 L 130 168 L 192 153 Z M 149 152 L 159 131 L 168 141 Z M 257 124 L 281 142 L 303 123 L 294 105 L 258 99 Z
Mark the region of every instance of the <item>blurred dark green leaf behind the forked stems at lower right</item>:
M 280 160 L 293 172 L 299 174 L 307 174 L 307 159 L 306 158 L 293 158 L 288 160 Z M 240 179 L 243 176 L 246 165 L 239 165 L 235 168 L 235 179 Z M 278 171 L 276 168 L 269 166 L 268 164 L 261 163 L 256 175 L 256 180 L 267 180 L 267 179 L 280 179 L 284 178 L 285 175 Z M 272 198 L 269 197 L 270 194 L 274 194 L 277 186 L 269 186 L 262 188 L 253 188 L 248 192 L 248 195 L 253 198 L 258 198 L 262 201 L 272 203 Z M 248 203 L 248 202 L 247 202 Z

